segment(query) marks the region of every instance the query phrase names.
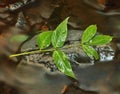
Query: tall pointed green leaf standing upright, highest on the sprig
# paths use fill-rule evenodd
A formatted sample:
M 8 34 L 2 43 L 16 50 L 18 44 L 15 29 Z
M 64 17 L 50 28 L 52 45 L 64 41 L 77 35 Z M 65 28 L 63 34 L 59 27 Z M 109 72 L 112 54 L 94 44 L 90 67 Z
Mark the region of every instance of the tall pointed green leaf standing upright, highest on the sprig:
M 52 45 L 54 48 L 59 48 L 64 45 L 64 42 L 67 37 L 67 23 L 68 18 L 61 22 L 58 27 L 54 30 L 52 35 Z

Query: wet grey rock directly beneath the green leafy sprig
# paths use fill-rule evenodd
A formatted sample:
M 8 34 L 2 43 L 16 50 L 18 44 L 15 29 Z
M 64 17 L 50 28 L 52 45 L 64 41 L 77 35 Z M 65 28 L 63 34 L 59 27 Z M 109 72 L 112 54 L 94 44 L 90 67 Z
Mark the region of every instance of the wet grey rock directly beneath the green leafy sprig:
M 93 58 L 89 58 L 86 53 L 82 50 L 81 46 L 78 46 L 80 44 L 80 36 L 82 34 L 82 31 L 77 30 L 69 30 L 68 31 L 68 37 L 66 40 L 66 44 L 64 45 L 62 51 L 64 51 L 67 56 L 69 57 L 69 60 L 73 64 L 77 64 L 80 67 L 85 67 L 89 65 L 93 65 L 95 63 L 95 60 Z M 76 35 L 76 36 L 75 36 Z M 38 46 L 36 43 L 37 36 L 35 35 L 33 38 L 25 42 L 21 46 L 20 52 L 26 52 L 26 51 L 32 51 L 32 50 L 38 50 Z M 68 49 L 67 46 L 71 45 L 71 47 Z M 109 44 L 106 46 L 99 46 L 96 48 L 98 50 L 98 53 L 100 55 L 99 62 L 106 62 L 106 61 L 113 61 L 115 58 L 116 53 L 116 47 L 115 44 Z M 39 58 L 36 58 L 38 55 Z M 32 55 L 27 56 L 28 59 L 26 59 L 29 62 L 53 62 L 51 58 L 51 53 L 44 54 L 44 53 L 38 53 L 33 54 L 32 61 L 30 59 Z M 44 63 L 45 64 L 45 63 Z

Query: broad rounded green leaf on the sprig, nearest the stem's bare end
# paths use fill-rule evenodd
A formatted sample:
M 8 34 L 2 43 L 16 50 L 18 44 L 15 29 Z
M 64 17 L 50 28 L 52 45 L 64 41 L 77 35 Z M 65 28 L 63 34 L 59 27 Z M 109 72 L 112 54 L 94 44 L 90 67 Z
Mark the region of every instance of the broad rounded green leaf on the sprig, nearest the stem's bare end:
M 40 49 L 45 49 L 50 46 L 52 33 L 52 31 L 46 31 L 38 35 L 37 44 Z

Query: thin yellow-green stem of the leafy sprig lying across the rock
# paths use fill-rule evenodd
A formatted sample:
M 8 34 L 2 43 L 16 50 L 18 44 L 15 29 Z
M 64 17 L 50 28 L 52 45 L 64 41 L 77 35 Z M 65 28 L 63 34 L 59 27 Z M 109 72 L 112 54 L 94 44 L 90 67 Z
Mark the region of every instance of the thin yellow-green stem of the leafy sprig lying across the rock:
M 58 48 L 58 49 L 62 50 L 62 49 L 66 49 L 66 48 L 76 47 L 76 46 L 81 46 L 81 44 L 79 43 L 79 44 L 74 44 L 74 45 L 67 45 L 63 48 Z M 19 54 L 10 55 L 9 57 L 12 58 L 12 57 L 29 55 L 29 54 L 40 53 L 40 52 L 51 52 L 51 51 L 54 51 L 54 50 L 55 50 L 55 48 L 51 48 L 51 49 L 47 49 L 47 50 L 36 50 L 36 51 L 30 51 L 30 52 L 23 52 L 23 53 L 19 53 Z

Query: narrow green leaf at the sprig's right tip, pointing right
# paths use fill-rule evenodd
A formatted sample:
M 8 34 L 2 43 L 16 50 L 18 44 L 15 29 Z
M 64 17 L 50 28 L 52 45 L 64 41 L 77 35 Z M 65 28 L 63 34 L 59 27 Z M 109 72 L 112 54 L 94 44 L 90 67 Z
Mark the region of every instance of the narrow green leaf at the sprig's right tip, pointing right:
M 97 35 L 88 44 L 89 45 L 105 45 L 112 40 L 111 36 L 108 35 Z

